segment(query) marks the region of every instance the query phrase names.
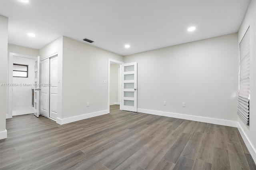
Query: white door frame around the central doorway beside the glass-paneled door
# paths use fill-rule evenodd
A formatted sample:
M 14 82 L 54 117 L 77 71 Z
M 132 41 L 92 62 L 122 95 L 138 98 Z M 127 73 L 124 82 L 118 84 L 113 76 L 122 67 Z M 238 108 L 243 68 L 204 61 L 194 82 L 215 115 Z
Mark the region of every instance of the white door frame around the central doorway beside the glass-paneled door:
M 111 63 L 116 63 L 116 64 L 120 65 L 120 71 L 119 71 L 119 79 L 120 79 L 120 81 L 119 81 L 119 85 L 118 85 L 119 91 L 120 91 L 121 85 L 122 85 L 122 79 L 120 78 L 120 76 L 122 76 L 121 71 L 122 71 L 122 64 L 124 62 L 118 61 L 118 60 L 115 60 L 115 59 L 110 59 L 110 58 L 108 59 L 108 113 L 110 113 L 110 106 L 109 105 L 110 105 L 110 64 Z M 121 101 L 121 91 L 119 93 L 118 98 L 119 98 L 120 110 L 122 110 L 121 104 L 120 104 L 120 101 Z

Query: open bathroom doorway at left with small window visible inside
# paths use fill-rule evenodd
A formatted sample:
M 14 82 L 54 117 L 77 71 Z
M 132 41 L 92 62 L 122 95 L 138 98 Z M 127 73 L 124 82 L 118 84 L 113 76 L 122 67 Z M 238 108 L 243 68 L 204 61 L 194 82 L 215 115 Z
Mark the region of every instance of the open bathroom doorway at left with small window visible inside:
M 9 53 L 8 114 L 26 115 L 34 109 L 34 68 L 38 57 Z

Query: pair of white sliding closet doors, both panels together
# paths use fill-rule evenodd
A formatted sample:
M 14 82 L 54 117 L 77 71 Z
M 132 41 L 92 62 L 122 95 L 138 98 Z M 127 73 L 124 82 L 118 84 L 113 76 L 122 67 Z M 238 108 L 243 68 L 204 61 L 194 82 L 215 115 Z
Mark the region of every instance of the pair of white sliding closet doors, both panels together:
M 58 55 L 40 61 L 40 114 L 56 121 L 58 104 Z

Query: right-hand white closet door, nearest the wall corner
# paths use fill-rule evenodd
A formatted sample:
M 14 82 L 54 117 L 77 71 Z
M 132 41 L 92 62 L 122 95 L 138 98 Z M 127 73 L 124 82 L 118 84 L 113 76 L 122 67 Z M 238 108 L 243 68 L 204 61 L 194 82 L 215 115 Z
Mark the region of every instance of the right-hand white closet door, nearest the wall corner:
M 57 118 L 58 57 L 50 58 L 50 117 Z

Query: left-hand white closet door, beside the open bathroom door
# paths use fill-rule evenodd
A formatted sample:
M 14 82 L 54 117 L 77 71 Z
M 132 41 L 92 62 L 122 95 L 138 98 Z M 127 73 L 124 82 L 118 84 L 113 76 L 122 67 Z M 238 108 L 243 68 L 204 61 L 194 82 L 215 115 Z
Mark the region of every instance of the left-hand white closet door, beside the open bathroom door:
M 41 61 L 40 114 L 49 117 L 50 58 Z

